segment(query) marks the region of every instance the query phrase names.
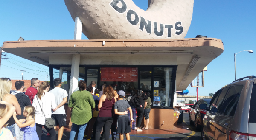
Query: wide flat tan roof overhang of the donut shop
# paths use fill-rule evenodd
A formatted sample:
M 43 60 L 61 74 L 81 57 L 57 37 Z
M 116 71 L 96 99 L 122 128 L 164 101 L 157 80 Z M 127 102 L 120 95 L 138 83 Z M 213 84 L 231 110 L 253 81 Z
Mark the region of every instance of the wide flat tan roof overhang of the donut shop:
M 105 41 L 105 45 L 103 42 Z M 223 52 L 214 38 L 154 40 L 31 40 L 6 41 L 3 50 L 48 66 L 56 55 L 154 55 L 177 56 L 177 90 L 184 90 L 213 59 Z

